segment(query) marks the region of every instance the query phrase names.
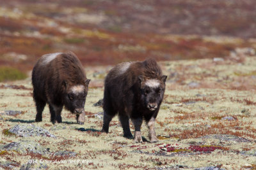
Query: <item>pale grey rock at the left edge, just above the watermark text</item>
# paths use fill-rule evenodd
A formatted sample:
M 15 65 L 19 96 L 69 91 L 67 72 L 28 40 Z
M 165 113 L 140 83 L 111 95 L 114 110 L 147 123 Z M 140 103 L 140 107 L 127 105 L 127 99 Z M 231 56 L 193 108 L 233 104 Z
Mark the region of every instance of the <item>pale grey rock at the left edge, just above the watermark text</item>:
M 3 150 L 15 150 L 19 153 L 39 153 L 41 155 L 45 155 L 48 153 L 47 149 L 42 147 L 39 143 L 35 141 L 19 141 L 19 142 L 12 142 L 7 145 L 4 145 Z

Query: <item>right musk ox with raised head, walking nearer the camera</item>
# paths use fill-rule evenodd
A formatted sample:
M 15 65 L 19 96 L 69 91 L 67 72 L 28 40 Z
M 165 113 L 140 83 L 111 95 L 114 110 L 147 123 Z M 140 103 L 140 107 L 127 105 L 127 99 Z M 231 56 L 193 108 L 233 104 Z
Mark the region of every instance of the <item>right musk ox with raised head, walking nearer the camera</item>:
M 154 59 L 124 62 L 113 67 L 105 79 L 102 132 L 108 133 L 109 122 L 118 114 L 125 138 L 132 138 L 131 118 L 135 127 L 134 141 L 142 142 L 140 129 L 144 119 L 150 142 L 158 141 L 154 125 L 163 101 L 166 78 Z

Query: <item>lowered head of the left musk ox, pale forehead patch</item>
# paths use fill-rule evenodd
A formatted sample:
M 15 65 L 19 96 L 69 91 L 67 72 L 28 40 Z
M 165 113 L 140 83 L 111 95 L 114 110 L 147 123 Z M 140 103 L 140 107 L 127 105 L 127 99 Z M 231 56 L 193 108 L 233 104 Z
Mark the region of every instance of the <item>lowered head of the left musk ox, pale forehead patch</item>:
M 84 103 L 88 92 L 88 84 L 90 79 L 86 79 L 82 84 L 68 84 L 67 81 L 63 82 L 63 103 L 67 110 L 74 114 L 81 114 L 84 112 Z

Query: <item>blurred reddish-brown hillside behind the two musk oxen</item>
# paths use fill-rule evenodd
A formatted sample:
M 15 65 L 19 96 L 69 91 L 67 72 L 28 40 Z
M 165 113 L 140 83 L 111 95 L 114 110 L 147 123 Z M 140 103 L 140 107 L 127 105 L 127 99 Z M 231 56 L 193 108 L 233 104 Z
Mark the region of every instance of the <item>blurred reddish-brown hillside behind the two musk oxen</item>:
M 84 66 L 253 54 L 255 6 L 255 0 L 0 1 L 0 73 L 27 72 L 41 55 L 69 50 Z

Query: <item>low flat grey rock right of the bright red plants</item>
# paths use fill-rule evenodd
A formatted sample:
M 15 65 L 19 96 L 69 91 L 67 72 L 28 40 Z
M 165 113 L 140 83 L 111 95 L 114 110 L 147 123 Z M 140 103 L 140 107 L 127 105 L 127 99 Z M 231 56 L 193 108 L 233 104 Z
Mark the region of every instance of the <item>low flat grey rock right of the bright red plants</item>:
M 250 142 L 250 140 L 241 138 L 238 136 L 230 135 L 230 134 L 209 134 L 206 136 L 200 137 L 201 139 L 219 139 L 220 141 L 235 141 L 237 143 L 241 142 Z

